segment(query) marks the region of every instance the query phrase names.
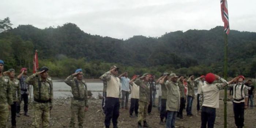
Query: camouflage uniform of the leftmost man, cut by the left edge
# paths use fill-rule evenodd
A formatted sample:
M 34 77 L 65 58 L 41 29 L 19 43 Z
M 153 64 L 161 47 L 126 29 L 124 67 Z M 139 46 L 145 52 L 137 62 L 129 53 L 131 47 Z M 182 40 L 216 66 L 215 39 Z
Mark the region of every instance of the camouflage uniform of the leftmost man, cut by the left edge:
M 7 76 L 0 77 L 0 128 L 6 128 L 8 120 L 8 106 L 12 105 L 12 89 Z

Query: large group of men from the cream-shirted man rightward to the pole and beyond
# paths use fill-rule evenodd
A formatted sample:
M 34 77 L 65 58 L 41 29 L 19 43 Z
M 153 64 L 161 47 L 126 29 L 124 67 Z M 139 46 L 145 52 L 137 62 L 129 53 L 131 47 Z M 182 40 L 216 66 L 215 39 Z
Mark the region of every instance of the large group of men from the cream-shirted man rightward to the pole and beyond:
M 118 69 L 112 66 L 110 71 L 103 74 L 100 79 L 105 81 L 106 97 L 103 98 L 103 110 L 105 116 L 105 126 L 109 128 L 112 118 L 113 128 L 117 128 L 117 118 L 119 116 L 119 99 L 121 99 L 121 108 L 128 109 L 128 97 L 131 97 L 130 117 L 135 110 L 135 116 L 138 116 L 138 128 L 150 127 L 147 124 L 146 116 L 151 114 L 150 105 L 154 106 L 154 91 L 156 84 L 161 90 L 159 95 L 158 109 L 160 111 L 160 123 L 166 125 L 166 128 L 174 128 L 176 117 L 183 118 L 183 109 L 187 101 L 187 116 L 193 116 L 192 103 L 195 98 L 195 84 L 197 84 L 197 114 L 201 115 L 201 128 L 214 128 L 216 108 L 219 108 L 219 92 L 225 87 L 233 87 L 233 111 L 235 123 L 238 128 L 244 126 L 244 109 L 248 106 L 248 89 L 244 85 L 244 76 L 238 76 L 229 82 L 220 78 L 218 75 L 208 73 L 194 79 L 191 75 L 176 76 L 165 72 L 156 82 L 151 74 L 135 75 L 130 80 L 128 73 L 125 72 L 117 77 Z M 122 88 L 120 87 L 120 81 Z M 237 82 L 236 84 L 231 84 Z M 152 84 L 154 83 L 154 84 Z M 136 88 L 135 88 L 136 87 Z M 157 86 L 155 86 L 157 88 Z M 121 98 L 122 90 L 122 98 Z M 131 91 L 131 92 L 129 92 Z M 113 95 L 115 94 L 115 95 Z M 119 99 L 118 99 L 119 98 Z M 124 100 L 126 98 L 126 100 Z M 124 105 L 125 101 L 125 105 Z M 138 110 L 138 111 L 137 111 Z M 165 121 L 164 121 L 165 119 Z M 166 123 L 165 123 L 166 122 Z M 143 123 L 143 125 L 142 125 Z

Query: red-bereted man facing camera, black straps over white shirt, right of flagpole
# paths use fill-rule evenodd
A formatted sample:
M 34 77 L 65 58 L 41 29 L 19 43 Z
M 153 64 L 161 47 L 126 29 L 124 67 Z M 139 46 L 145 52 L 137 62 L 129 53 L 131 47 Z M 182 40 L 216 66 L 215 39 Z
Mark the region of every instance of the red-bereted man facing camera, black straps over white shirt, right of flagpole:
M 233 110 L 235 123 L 237 128 L 244 126 L 244 109 L 248 107 L 248 87 L 244 84 L 244 76 L 238 76 L 233 81 L 237 81 L 236 84 L 230 84 L 233 86 Z

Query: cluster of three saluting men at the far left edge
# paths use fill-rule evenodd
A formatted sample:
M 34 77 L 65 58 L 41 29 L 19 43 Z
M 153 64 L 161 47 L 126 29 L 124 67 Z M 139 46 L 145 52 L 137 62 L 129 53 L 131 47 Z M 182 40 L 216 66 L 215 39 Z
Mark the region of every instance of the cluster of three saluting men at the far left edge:
M 15 78 L 15 70 L 4 71 L 4 61 L 0 60 L 0 128 L 7 126 L 9 111 L 11 110 L 12 128 L 16 128 L 16 116 L 20 117 L 20 103 L 24 101 L 24 115 L 28 114 L 29 84 L 25 82 L 27 69 L 20 69 Z

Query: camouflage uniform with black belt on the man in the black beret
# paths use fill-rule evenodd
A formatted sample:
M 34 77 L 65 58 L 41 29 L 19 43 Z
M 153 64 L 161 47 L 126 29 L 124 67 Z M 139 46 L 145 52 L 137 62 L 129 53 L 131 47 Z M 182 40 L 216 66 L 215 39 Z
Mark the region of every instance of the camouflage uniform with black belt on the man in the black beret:
M 41 118 L 43 128 L 49 128 L 50 109 L 52 108 L 53 103 L 52 79 L 48 76 L 46 82 L 43 82 L 42 78 L 35 73 L 26 79 L 26 83 L 33 86 L 34 118 L 32 128 L 39 128 Z

